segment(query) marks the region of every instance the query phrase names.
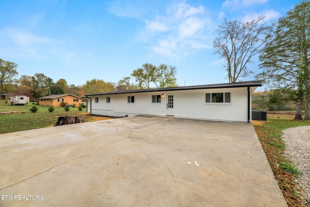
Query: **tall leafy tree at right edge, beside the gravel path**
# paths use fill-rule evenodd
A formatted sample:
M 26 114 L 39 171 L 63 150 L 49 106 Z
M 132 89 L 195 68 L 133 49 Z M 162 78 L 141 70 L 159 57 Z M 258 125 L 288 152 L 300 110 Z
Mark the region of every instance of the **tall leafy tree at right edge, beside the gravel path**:
M 310 1 L 302 1 L 279 19 L 273 38 L 260 54 L 264 79 L 296 102 L 295 119 L 310 119 Z

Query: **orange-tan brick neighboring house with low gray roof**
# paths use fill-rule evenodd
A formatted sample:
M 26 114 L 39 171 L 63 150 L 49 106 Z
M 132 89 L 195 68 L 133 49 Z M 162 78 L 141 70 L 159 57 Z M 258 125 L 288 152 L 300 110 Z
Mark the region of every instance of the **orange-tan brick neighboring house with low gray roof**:
M 72 94 L 58 94 L 37 98 L 40 106 L 62 107 L 61 103 L 65 102 L 69 106 L 76 104 L 77 107 L 82 103 L 82 98 Z

